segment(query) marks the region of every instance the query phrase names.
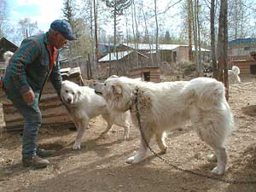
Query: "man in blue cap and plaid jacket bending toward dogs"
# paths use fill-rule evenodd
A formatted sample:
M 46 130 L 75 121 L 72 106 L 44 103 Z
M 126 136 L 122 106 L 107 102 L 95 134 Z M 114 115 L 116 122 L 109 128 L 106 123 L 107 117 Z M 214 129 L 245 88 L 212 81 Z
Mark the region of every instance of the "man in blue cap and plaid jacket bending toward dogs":
M 67 40 L 75 40 L 66 20 L 55 20 L 49 31 L 26 38 L 10 59 L 3 79 L 3 89 L 24 118 L 22 138 L 22 165 L 44 168 L 52 151 L 37 147 L 38 129 L 42 115 L 38 102 L 45 81 L 49 78 L 58 96 L 61 91 L 61 73 L 58 50 Z

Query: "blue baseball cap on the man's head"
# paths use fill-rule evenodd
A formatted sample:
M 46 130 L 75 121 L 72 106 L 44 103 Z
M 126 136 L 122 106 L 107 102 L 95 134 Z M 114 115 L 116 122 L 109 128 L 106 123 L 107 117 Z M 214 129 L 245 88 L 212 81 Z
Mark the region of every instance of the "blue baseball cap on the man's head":
M 76 40 L 72 28 L 67 20 L 55 20 L 50 24 L 50 28 L 60 32 L 61 35 L 69 41 Z

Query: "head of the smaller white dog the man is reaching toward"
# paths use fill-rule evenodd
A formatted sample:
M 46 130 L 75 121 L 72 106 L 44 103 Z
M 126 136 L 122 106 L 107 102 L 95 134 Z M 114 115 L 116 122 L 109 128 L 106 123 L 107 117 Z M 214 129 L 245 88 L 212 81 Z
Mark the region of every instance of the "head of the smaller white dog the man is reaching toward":
M 67 105 L 73 105 L 79 102 L 79 96 L 81 96 L 81 94 L 79 84 L 75 84 L 68 80 L 62 81 L 61 99 Z

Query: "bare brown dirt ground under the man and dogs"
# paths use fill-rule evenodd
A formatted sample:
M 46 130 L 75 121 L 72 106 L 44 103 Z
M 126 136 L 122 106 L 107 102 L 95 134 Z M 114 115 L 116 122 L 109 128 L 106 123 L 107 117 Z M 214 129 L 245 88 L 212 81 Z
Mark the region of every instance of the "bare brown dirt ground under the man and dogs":
M 137 165 L 125 159 L 139 145 L 139 131 L 131 127 L 131 137 L 122 140 L 123 129 L 114 126 L 106 139 L 98 138 L 105 127 L 100 118 L 92 119 L 84 134 L 82 149 L 74 151 L 75 131 L 67 127 L 42 127 L 38 143 L 53 148 L 52 166 L 41 170 L 23 168 L 20 164 L 20 132 L 0 135 L 0 191 L 2 192 L 255 192 L 256 191 L 256 79 L 243 78 L 230 86 L 230 107 L 236 130 L 229 137 L 229 166 L 224 176 L 230 183 L 212 179 L 215 163 L 207 161 L 212 150 L 196 136 L 190 125 L 182 131 L 168 133 L 169 163 L 193 173 L 178 171 L 148 151 L 148 158 Z M 152 147 L 159 151 L 154 143 Z M 207 177 L 197 176 L 201 173 Z M 236 184 L 236 182 L 250 182 Z

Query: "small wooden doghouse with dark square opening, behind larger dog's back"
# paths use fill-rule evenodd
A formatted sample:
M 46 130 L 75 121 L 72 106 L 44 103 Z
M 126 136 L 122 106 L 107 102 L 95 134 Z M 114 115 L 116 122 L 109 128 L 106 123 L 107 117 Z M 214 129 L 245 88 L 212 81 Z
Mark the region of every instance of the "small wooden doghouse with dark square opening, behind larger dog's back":
M 129 71 L 130 78 L 143 78 L 144 81 L 160 82 L 159 67 L 143 67 L 132 69 Z

